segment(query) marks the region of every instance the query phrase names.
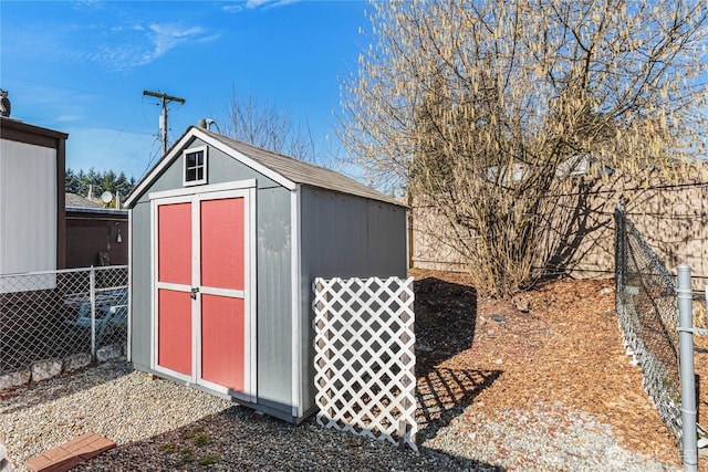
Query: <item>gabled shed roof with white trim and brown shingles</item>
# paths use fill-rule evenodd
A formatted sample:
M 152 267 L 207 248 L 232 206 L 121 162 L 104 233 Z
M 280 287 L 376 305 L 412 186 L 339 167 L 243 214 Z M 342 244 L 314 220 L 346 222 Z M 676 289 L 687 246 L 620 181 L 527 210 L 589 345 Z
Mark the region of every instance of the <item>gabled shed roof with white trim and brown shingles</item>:
M 209 129 L 190 126 L 153 169 L 136 185 L 135 190 L 127 196 L 126 207 L 133 203 L 147 190 L 150 183 L 181 155 L 181 149 L 190 139 L 199 138 L 207 144 L 217 147 L 232 158 L 242 161 L 257 171 L 264 172 L 279 183 L 293 189 L 295 185 L 333 190 L 340 193 L 353 195 L 372 200 L 404 206 L 393 197 L 372 189 L 350 177 L 334 170 L 325 169 L 310 162 L 304 162 L 282 154 L 273 153 L 247 143 L 231 139 L 227 136 L 214 133 Z M 273 175 L 274 174 L 274 175 Z M 280 178 L 279 178 L 280 177 Z

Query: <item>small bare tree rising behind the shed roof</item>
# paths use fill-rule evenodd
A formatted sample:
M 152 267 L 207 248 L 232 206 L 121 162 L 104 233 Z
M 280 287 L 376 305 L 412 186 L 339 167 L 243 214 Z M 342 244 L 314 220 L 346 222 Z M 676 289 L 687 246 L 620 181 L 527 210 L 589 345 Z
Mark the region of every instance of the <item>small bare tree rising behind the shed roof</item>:
M 252 95 L 239 98 L 232 91 L 226 123 L 223 133 L 236 139 L 295 159 L 320 160 L 310 124 L 294 122 L 288 107 L 262 102 Z

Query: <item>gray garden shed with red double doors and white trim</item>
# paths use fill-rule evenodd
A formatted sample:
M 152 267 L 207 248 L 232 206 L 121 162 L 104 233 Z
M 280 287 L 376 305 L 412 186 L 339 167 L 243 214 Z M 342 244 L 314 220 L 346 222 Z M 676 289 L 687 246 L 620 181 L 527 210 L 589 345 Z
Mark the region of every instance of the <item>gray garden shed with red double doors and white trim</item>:
M 341 174 L 189 127 L 129 209 L 129 358 L 300 422 L 315 276 L 405 276 L 406 207 Z

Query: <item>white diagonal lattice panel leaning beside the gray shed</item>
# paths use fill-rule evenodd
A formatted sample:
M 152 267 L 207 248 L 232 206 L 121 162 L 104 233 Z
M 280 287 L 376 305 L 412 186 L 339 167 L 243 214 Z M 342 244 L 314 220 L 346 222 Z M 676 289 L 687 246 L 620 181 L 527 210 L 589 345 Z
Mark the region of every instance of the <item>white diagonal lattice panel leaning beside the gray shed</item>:
M 418 450 L 413 279 L 315 279 L 317 422 Z

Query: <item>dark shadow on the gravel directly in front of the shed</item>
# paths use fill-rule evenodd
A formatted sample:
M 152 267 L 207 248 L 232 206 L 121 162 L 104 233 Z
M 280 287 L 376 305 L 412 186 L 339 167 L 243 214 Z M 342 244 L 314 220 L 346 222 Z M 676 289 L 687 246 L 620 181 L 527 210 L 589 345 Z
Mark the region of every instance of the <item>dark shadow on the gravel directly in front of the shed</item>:
M 293 426 L 238 406 L 118 445 L 73 470 L 503 471 L 429 448 L 399 450 L 387 441 L 322 428 L 314 418 Z

